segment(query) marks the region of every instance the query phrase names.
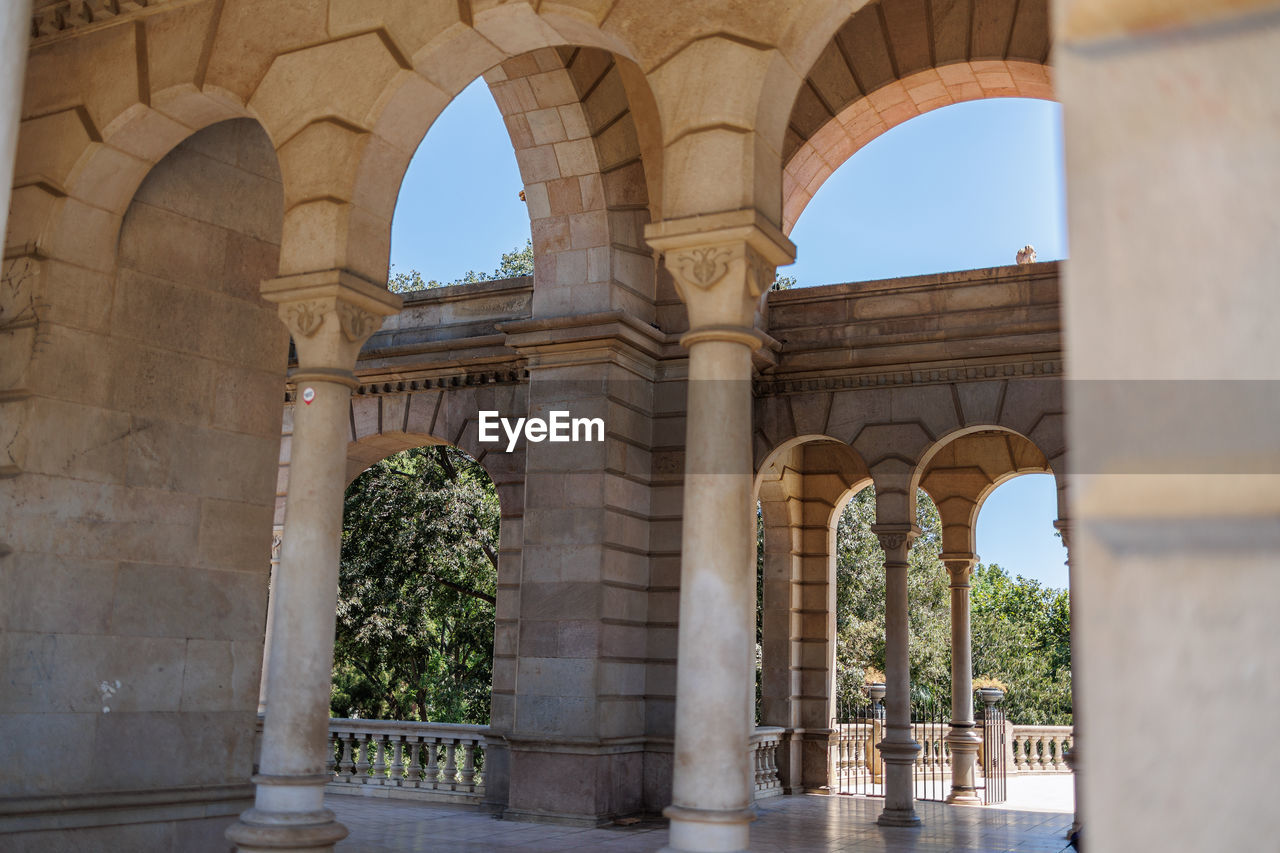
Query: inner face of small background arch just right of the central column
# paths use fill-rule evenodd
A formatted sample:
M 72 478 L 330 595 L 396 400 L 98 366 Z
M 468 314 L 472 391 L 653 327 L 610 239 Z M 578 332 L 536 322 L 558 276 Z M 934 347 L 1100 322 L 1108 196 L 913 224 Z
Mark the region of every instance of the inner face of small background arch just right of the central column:
M 764 525 L 760 725 L 803 730 L 778 765 L 790 792 L 828 784 L 836 521 L 849 496 L 869 482 L 854 450 L 820 435 L 785 442 L 756 478 Z

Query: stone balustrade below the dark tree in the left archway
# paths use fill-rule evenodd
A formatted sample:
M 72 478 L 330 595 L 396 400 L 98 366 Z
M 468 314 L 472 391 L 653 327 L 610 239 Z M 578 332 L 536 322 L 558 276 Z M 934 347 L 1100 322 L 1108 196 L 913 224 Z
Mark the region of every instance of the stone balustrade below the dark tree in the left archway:
M 479 802 L 486 726 L 330 720 L 325 790 L 404 799 Z

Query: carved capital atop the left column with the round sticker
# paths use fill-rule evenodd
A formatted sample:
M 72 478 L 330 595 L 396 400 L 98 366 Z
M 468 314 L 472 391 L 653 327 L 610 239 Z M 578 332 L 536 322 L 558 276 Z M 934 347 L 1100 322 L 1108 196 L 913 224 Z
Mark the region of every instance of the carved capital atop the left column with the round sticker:
M 360 347 L 403 304 L 385 287 L 339 269 L 271 278 L 261 293 L 276 304 L 293 336 L 300 373 L 348 384 Z

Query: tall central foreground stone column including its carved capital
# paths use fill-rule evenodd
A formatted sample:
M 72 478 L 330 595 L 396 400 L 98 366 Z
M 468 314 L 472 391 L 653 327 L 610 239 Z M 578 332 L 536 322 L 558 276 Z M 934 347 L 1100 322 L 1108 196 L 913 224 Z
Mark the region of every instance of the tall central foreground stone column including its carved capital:
M 751 353 L 755 310 L 790 242 L 755 211 L 654 223 L 689 307 L 689 405 L 671 850 L 745 850 L 754 818 Z

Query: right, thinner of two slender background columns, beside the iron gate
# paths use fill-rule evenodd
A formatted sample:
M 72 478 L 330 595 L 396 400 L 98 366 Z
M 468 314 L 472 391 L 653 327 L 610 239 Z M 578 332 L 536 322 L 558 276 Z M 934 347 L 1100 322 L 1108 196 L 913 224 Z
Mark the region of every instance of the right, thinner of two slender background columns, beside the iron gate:
M 972 553 L 943 553 L 951 576 L 951 793 L 948 803 L 982 804 L 975 781 L 982 735 L 973 720 L 973 634 L 969 626 L 969 576 L 978 561 Z

